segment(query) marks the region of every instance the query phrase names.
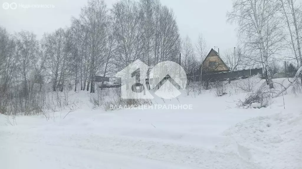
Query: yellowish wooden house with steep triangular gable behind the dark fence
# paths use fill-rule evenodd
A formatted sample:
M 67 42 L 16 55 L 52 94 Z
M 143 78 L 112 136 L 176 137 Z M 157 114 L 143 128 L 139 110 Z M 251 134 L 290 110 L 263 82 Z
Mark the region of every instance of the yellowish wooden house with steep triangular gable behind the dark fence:
M 228 72 L 229 67 L 219 57 L 218 53 L 212 48 L 207 57 L 202 62 L 203 73 Z

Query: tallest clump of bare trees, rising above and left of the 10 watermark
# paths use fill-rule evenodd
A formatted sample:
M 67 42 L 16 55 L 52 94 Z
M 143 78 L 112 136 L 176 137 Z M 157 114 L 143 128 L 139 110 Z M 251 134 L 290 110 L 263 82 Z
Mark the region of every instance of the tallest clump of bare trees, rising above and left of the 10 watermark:
M 180 50 L 173 11 L 157 0 L 121 0 L 110 10 L 103 1 L 89 1 L 80 18 L 73 18 L 71 30 L 79 60 L 76 86 L 85 90 L 87 84 L 88 90 L 90 84 L 91 93 L 95 75 L 114 75 L 137 59 L 148 66 L 175 61 Z

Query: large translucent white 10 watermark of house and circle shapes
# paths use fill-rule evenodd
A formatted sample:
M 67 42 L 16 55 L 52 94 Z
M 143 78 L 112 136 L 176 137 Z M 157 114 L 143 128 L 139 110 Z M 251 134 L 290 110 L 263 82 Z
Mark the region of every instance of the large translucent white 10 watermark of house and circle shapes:
M 149 79 L 146 79 L 148 70 Z M 185 89 L 187 85 L 185 70 L 172 61 L 163 61 L 149 67 L 142 61 L 135 60 L 115 76 L 121 78 L 123 99 L 153 99 L 148 89 L 156 90 L 154 94 L 163 99 L 172 99 L 181 94 L 178 88 Z

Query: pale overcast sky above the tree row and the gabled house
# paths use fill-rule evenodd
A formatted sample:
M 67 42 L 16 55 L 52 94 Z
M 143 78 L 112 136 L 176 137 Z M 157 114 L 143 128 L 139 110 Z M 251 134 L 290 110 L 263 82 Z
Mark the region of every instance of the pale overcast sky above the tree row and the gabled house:
M 70 18 L 78 16 L 87 0 L 0 0 L 0 25 L 9 32 L 21 29 L 33 31 L 40 39 L 44 32 L 53 32 L 59 27 L 70 25 Z M 2 4 L 12 2 L 17 8 L 3 9 Z M 105 0 L 110 8 L 116 0 Z M 226 23 L 226 12 L 232 9 L 231 0 L 161 0 L 163 5 L 172 8 L 180 34 L 189 35 L 197 41 L 201 32 L 208 46 L 220 48 L 220 52 L 236 46 L 235 26 Z M 19 4 L 54 5 L 54 8 L 19 8 Z M 217 49 L 216 49 L 217 50 Z

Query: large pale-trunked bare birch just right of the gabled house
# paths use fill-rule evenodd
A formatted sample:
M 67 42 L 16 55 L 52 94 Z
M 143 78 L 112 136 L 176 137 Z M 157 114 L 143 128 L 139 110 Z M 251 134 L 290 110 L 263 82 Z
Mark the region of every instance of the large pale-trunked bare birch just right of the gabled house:
M 243 37 L 242 42 L 245 44 L 254 44 L 258 47 L 261 54 L 262 64 L 267 74 L 266 80 L 270 88 L 274 88 L 272 83 L 271 69 L 268 64 L 269 47 L 276 45 L 273 41 L 266 43 L 266 36 L 272 32 L 280 33 L 280 26 L 276 20 L 276 13 L 279 11 L 277 0 L 235 0 L 233 1 L 233 11 L 227 13 L 228 21 L 238 24 L 238 32 Z M 267 28 L 265 30 L 265 28 Z M 279 38 L 279 37 L 272 37 Z

